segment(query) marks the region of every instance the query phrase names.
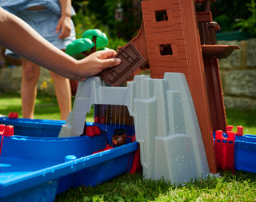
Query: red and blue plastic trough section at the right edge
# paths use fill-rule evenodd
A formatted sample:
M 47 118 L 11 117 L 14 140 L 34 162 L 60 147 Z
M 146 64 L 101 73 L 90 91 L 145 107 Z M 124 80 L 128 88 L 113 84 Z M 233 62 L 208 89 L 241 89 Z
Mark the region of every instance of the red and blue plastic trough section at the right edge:
M 228 126 L 226 133 L 218 130 L 214 133 L 215 154 L 220 170 L 243 170 L 256 173 L 256 136 L 242 135 L 242 126 L 237 133 Z

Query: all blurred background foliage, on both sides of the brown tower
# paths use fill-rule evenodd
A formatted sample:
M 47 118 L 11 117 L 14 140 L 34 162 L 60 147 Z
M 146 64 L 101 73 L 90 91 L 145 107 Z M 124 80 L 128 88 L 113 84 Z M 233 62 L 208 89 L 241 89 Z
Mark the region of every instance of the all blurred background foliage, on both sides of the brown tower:
M 217 0 L 211 3 L 215 22 L 221 26 L 221 32 L 242 30 L 256 35 L 256 8 L 252 9 L 254 0 Z M 72 0 L 77 14 L 73 17 L 77 38 L 86 30 L 99 29 L 109 38 L 108 48 L 117 50 L 138 34 L 142 22 L 140 0 Z M 116 21 L 116 9 L 122 8 L 122 21 Z M 203 10 L 204 4 L 197 10 Z M 237 20 L 240 19 L 240 20 Z M 253 22 L 253 23 L 251 23 Z M 4 50 L 0 51 L 0 66 L 19 65 L 20 61 L 6 58 Z

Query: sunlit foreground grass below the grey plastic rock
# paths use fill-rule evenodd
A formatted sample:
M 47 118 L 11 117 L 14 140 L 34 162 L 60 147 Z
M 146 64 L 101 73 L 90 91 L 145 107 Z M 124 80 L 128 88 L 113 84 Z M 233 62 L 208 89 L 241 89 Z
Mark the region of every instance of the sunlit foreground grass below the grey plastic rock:
M 222 172 L 186 184 L 144 180 L 142 174 L 124 174 L 92 187 L 71 188 L 55 201 L 256 201 L 256 174 Z

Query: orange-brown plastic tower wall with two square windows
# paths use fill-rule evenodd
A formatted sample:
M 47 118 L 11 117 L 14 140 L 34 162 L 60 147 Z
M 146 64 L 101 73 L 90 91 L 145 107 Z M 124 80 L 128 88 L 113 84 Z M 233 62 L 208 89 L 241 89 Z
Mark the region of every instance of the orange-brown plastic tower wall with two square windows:
M 165 13 L 163 20 L 157 13 Z M 204 77 L 197 18 L 193 0 L 142 1 L 150 74 L 162 78 L 165 72 L 185 73 L 206 148 L 210 172 L 217 172 L 210 109 Z M 171 54 L 162 55 L 160 46 L 171 46 Z

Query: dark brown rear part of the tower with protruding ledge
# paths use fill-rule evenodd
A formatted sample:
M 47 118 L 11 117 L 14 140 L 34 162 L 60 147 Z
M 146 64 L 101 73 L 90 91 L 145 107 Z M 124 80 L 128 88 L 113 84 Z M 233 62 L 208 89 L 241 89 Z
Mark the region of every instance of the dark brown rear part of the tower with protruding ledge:
M 196 1 L 202 2 L 202 1 Z M 210 0 L 205 2 L 205 11 L 198 12 L 198 30 L 202 44 L 202 56 L 206 77 L 206 89 L 210 107 L 210 117 L 213 131 L 226 131 L 226 112 L 222 97 L 222 83 L 218 68 L 218 59 L 228 57 L 238 49 L 238 46 L 217 45 L 215 31 L 218 23 L 213 22 L 210 12 Z

